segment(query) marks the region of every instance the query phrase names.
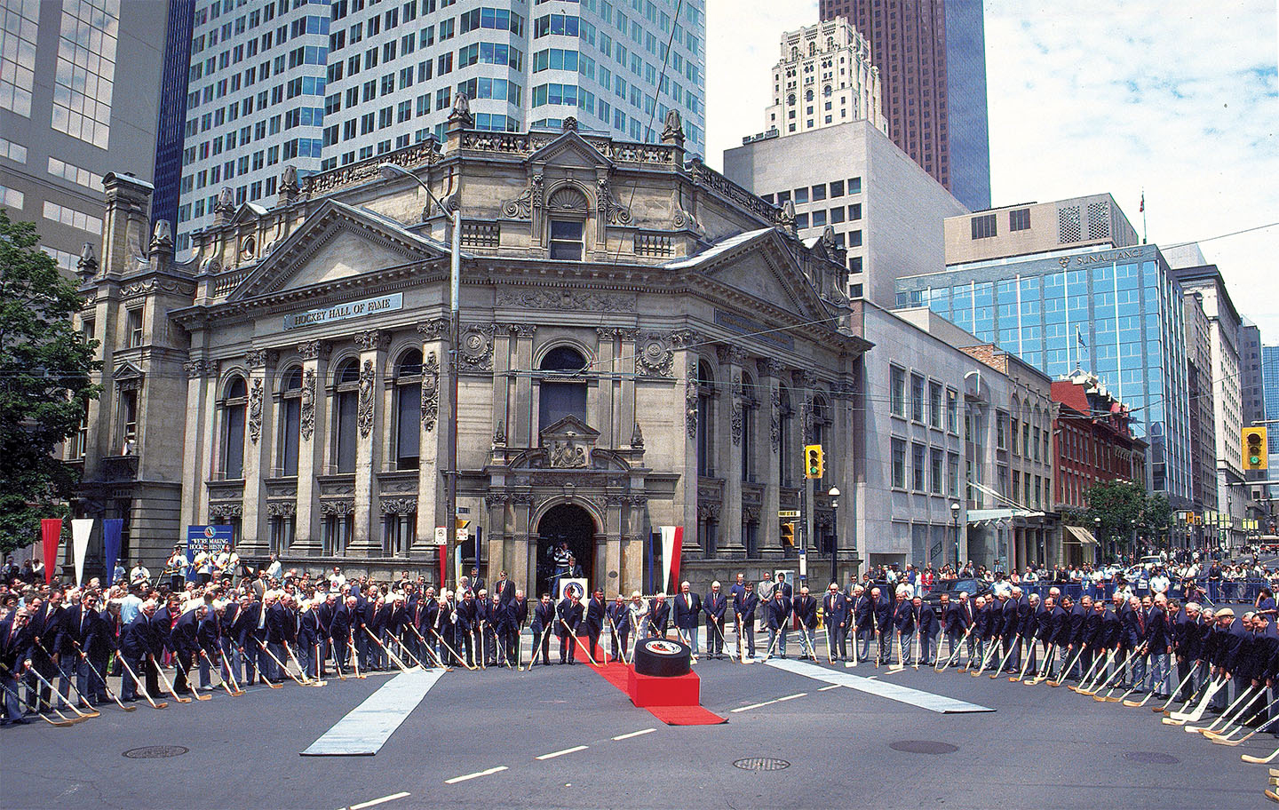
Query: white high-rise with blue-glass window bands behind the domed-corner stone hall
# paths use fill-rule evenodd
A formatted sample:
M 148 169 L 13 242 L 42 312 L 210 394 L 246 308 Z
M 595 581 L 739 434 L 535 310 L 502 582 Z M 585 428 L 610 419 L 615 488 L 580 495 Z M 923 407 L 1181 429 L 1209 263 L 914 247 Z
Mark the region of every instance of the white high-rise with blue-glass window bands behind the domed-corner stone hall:
M 660 139 L 679 110 L 706 151 L 705 0 L 197 0 L 177 247 L 299 177 L 444 131 L 458 93 L 477 129 Z

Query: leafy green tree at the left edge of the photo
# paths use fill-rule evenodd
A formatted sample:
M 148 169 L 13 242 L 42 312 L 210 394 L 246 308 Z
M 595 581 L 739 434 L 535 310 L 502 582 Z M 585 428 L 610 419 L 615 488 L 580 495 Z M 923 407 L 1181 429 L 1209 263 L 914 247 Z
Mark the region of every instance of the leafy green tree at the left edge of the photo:
M 0 209 L 0 553 L 40 537 L 40 518 L 65 513 L 79 481 L 54 457 L 98 393 L 96 342 L 72 326 L 75 284 L 40 250 L 31 223 Z

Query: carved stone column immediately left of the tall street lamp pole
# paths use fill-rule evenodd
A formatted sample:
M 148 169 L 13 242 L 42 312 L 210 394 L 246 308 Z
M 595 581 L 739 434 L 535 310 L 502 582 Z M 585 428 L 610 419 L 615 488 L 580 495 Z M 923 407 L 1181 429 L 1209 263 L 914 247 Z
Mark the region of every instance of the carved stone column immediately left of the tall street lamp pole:
M 440 393 L 449 358 L 449 321 L 443 317 L 418 324 L 422 335 L 422 438 L 417 471 L 417 543 L 439 564 L 435 527 L 444 526 L 444 424 Z

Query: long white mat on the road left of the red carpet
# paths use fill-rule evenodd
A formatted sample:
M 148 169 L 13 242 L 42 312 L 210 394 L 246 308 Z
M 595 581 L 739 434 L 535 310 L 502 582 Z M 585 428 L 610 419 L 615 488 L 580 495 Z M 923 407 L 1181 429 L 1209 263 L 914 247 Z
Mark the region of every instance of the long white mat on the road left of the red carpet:
M 443 674 L 443 669 L 402 672 L 338 720 L 311 747 L 302 751 L 302 756 L 377 754 Z

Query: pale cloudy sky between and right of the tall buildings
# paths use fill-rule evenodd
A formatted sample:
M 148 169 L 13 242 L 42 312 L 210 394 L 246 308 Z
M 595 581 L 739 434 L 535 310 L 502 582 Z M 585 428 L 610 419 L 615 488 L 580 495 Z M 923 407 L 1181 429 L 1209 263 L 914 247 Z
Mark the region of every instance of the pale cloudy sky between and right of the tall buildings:
M 1279 344 L 1275 0 L 982 5 L 993 205 L 1110 192 L 1142 233 L 1145 193 L 1149 241 L 1198 241 Z M 766 128 L 780 35 L 815 22 L 816 0 L 707 0 L 707 164 Z

